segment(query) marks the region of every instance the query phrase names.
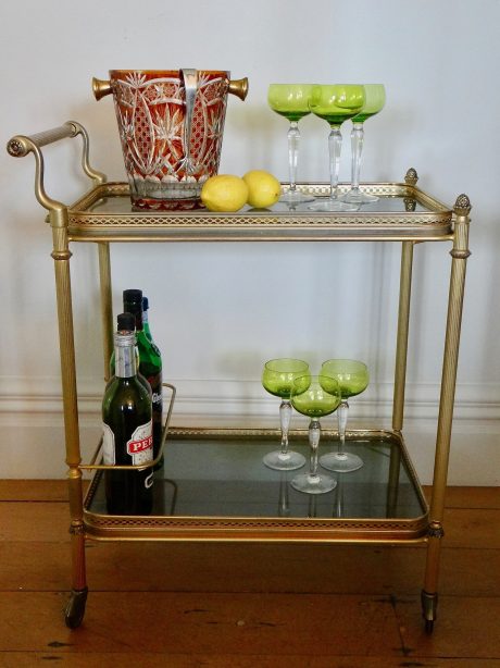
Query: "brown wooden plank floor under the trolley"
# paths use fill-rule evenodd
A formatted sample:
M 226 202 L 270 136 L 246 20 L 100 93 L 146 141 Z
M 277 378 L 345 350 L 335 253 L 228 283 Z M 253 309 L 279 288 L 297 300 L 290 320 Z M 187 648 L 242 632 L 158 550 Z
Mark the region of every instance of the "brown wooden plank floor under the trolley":
M 0 667 L 500 666 L 500 488 L 447 497 L 438 620 L 425 548 L 89 543 L 66 629 L 64 481 L 0 481 Z

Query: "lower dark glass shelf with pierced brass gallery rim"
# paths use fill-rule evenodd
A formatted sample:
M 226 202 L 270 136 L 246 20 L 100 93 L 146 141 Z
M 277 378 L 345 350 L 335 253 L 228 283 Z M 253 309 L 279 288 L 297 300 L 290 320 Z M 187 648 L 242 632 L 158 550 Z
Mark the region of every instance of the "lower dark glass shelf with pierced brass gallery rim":
M 321 469 L 337 485 L 320 495 L 293 490 L 290 481 L 298 471 L 264 466 L 263 456 L 278 444 L 276 430 L 171 428 L 164 467 L 154 473 L 152 515 L 108 515 L 98 471 L 84 503 L 86 534 L 103 540 L 425 540 L 428 508 L 400 434 L 348 432 L 346 449 L 364 466 L 350 473 Z M 291 432 L 290 448 L 309 461 L 305 430 Z M 337 434 L 324 431 L 320 456 L 336 448 Z

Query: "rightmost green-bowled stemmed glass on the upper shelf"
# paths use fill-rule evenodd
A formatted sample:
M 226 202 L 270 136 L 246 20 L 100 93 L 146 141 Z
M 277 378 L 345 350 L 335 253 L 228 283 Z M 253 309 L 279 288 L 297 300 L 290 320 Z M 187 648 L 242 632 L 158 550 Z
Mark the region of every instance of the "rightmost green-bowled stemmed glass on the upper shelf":
M 361 153 L 364 143 L 364 122 L 384 109 L 386 103 L 386 89 L 383 84 L 364 85 L 365 101 L 363 109 L 352 119 L 351 129 L 351 189 L 340 199 L 354 205 L 365 205 L 377 201 L 376 195 L 362 193 L 360 189 Z

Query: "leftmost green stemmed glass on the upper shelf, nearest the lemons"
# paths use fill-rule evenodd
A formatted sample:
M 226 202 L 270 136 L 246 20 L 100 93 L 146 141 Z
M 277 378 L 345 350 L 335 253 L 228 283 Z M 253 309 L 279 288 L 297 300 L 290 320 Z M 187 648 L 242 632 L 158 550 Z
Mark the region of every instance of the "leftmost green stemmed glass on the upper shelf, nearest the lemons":
M 311 90 L 312 84 L 271 84 L 267 91 L 267 103 L 271 109 L 290 122 L 288 129 L 290 187 L 279 198 L 279 201 L 289 205 L 299 205 L 314 199 L 312 195 L 305 195 L 297 189 L 297 164 L 300 144 L 299 121 L 311 113 L 309 109 Z

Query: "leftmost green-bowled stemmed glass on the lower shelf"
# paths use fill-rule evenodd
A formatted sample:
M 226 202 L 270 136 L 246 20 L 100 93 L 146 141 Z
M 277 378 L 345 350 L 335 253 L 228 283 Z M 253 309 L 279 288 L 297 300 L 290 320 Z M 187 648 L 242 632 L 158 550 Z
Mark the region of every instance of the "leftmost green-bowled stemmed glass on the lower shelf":
M 293 381 L 301 378 L 297 386 Z M 279 424 L 282 429 L 282 447 L 264 456 L 263 462 L 276 471 L 293 471 L 305 463 L 305 457 L 300 453 L 288 449 L 288 431 L 291 420 L 290 397 L 293 392 L 303 392 L 311 380 L 308 362 L 301 359 L 282 357 L 272 359 L 264 364 L 262 385 L 270 394 L 280 397 Z

